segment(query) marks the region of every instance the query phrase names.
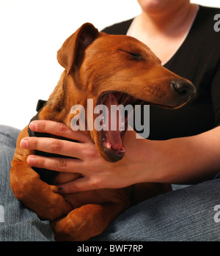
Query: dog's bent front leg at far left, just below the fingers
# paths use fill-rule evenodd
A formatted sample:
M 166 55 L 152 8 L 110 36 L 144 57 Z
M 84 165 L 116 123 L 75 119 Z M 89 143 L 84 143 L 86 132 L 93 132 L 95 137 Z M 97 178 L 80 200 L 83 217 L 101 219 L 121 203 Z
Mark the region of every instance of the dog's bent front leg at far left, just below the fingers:
M 37 172 L 26 162 L 12 161 L 11 188 L 18 200 L 31 209 L 40 219 L 54 220 L 67 215 L 73 207 L 58 194 L 59 188 L 40 180 Z

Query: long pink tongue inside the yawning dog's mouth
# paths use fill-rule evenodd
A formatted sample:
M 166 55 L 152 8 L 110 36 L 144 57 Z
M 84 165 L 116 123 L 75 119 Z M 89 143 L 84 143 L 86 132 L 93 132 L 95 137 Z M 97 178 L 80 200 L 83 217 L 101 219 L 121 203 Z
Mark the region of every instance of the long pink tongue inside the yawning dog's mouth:
M 104 104 L 109 109 L 109 118 L 106 118 L 106 127 L 109 127 L 108 131 L 106 131 L 106 134 L 109 136 L 109 147 L 111 147 L 111 149 L 113 150 L 117 150 L 117 153 L 124 153 L 125 150 L 122 147 L 122 139 L 120 136 L 120 126 L 122 123 L 121 114 L 119 113 L 120 111 L 117 111 L 118 114 L 111 113 L 111 105 L 118 105 L 117 99 L 115 98 L 113 93 L 109 93 L 107 95 Z M 115 117 L 116 114 L 117 118 Z M 114 118 L 111 118 L 111 115 L 113 115 Z M 116 131 L 111 131 L 111 125 L 114 125 L 114 127 L 116 127 Z

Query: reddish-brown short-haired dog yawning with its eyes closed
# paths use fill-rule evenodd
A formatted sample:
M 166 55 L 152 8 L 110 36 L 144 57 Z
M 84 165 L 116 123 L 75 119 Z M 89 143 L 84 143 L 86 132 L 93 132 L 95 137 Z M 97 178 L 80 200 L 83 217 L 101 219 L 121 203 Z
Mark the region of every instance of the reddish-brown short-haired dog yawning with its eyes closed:
M 34 119 L 56 120 L 70 127 L 71 107 L 80 104 L 86 108 L 87 99 L 93 99 L 95 105 L 110 106 L 115 102 L 135 105 L 143 101 L 177 109 L 195 92 L 189 81 L 166 70 L 143 43 L 133 37 L 99 33 L 90 23 L 67 38 L 57 59 L 65 71 Z M 92 137 L 106 161 L 119 161 L 124 156 L 124 135 L 120 131 L 93 129 L 85 133 Z M 62 172 L 48 179 L 52 171 L 35 169 L 34 172 L 26 164 L 26 158 L 34 152 L 23 150 L 20 142 L 24 136 L 33 135 L 44 136 L 31 134 L 27 126 L 18 137 L 10 172 L 11 187 L 26 207 L 41 219 L 51 221 L 56 240 L 85 241 L 100 235 L 132 204 L 169 191 L 167 185 L 142 183 L 125 189 L 100 189 L 63 197 L 53 185 L 63 182 Z

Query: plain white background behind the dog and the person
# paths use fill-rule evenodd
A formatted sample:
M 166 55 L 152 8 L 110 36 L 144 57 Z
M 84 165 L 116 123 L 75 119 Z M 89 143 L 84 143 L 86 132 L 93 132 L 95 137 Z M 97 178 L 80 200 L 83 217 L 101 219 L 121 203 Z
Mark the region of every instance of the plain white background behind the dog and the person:
M 219 0 L 191 2 L 220 7 Z M 79 26 L 103 29 L 139 13 L 136 0 L 0 0 L 0 124 L 29 123 L 62 73 L 56 51 Z

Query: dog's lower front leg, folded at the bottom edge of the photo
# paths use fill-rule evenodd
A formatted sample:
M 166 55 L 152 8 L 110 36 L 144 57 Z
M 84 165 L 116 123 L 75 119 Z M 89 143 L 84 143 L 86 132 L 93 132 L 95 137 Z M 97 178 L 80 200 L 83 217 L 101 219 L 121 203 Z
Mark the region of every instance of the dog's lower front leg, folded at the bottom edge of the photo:
M 123 202 L 83 205 L 51 222 L 56 241 L 87 241 L 103 233 L 113 219 L 128 208 Z

